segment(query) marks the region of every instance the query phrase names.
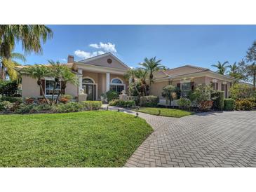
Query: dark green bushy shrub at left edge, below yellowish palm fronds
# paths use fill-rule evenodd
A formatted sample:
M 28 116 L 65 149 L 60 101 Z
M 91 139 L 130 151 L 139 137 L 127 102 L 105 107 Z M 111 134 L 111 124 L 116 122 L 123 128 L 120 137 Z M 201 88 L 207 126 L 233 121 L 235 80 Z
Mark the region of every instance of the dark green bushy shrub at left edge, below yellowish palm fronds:
M 0 81 L 0 95 L 13 96 L 17 90 L 17 81 Z

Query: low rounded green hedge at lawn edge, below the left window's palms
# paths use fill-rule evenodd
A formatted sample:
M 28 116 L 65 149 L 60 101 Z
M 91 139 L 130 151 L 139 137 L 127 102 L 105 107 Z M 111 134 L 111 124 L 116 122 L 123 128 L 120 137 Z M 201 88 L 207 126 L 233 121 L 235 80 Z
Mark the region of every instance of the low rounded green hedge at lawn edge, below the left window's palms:
M 83 104 L 79 102 L 68 102 L 67 104 L 58 104 L 53 107 L 53 111 L 58 113 L 82 111 Z

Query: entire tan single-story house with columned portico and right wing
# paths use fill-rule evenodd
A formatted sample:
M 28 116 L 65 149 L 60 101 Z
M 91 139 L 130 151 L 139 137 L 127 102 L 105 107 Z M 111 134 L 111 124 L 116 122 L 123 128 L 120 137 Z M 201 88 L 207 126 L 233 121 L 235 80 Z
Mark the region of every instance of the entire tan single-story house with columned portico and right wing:
M 129 82 L 123 77 L 126 71 L 130 69 L 119 58 L 112 53 L 105 53 L 90 57 L 79 62 L 74 61 L 74 57 L 69 55 L 67 66 L 74 71 L 79 79 L 79 85 L 67 84 L 67 88 L 62 90 L 65 94 L 79 97 L 81 89 L 88 95 L 87 100 L 100 100 L 100 95 L 108 90 L 121 92 L 127 90 Z M 22 67 L 18 67 L 20 71 Z M 160 103 L 166 103 L 161 96 L 163 87 L 166 85 L 175 85 L 180 88 L 181 95 L 184 96 L 193 90 L 199 84 L 212 84 L 215 90 L 223 90 L 225 97 L 229 97 L 229 88 L 234 78 L 217 74 L 210 69 L 185 65 L 175 69 L 161 70 L 154 73 L 154 83 L 151 85 L 150 94 L 159 96 Z M 53 91 L 53 78 L 45 77 L 43 79 L 43 89 L 46 96 Z M 61 82 L 58 89 L 62 89 Z M 41 97 L 39 85 L 36 79 L 22 74 L 22 97 Z

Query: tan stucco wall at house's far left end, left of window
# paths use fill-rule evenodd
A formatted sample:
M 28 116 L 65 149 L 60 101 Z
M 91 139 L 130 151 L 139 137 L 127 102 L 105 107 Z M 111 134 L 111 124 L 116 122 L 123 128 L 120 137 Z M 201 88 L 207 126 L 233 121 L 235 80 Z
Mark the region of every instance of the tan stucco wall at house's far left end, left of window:
M 40 87 L 36 79 L 22 75 L 22 97 L 39 97 Z

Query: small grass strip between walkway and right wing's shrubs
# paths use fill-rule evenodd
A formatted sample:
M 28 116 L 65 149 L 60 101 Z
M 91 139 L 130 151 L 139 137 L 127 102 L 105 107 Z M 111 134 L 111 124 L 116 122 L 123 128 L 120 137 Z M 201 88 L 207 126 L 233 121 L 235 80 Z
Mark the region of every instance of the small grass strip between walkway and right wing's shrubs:
M 138 111 L 151 114 L 151 115 L 159 115 L 159 110 L 161 111 L 160 116 L 170 116 L 170 117 L 182 117 L 182 116 L 189 116 L 194 114 L 191 111 L 184 111 L 180 109 L 168 109 L 168 108 L 159 108 L 159 107 L 141 107 Z

